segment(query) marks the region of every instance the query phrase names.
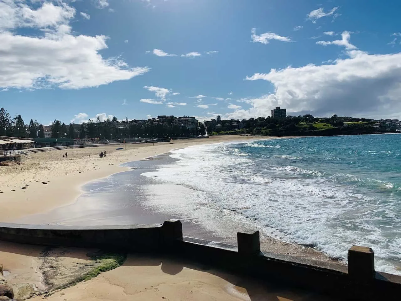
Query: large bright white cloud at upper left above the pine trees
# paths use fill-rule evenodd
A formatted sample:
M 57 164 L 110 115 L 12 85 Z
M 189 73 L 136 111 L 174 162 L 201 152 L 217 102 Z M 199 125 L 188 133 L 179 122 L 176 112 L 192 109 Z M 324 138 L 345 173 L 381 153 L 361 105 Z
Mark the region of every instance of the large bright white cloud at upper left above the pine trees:
M 75 8 L 44 2 L 0 2 L 0 87 L 79 89 L 127 80 L 149 71 L 130 68 L 119 57 L 104 59 L 107 37 L 72 35 Z M 29 36 L 18 28 L 32 28 Z M 34 36 L 36 34 L 36 37 Z

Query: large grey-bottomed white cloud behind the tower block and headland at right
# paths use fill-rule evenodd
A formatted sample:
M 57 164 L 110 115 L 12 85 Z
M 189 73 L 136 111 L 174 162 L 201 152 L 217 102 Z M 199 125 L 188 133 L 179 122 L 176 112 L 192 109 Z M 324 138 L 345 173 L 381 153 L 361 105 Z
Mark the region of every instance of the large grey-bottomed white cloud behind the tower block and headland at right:
M 346 58 L 330 65 L 271 69 L 247 80 L 263 79 L 274 85 L 274 93 L 245 99 L 249 110 L 237 110 L 233 118 L 268 116 L 271 108 L 317 116 L 398 118 L 401 113 L 401 53 L 369 54 L 349 49 Z

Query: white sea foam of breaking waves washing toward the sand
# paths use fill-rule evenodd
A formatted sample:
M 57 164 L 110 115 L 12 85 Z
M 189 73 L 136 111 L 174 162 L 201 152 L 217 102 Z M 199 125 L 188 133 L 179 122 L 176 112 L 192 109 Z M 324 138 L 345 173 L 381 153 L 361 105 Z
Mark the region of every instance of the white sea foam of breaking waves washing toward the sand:
M 244 147 L 263 147 L 262 143 Z M 303 158 L 277 156 L 283 161 Z M 144 175 L 199 191 L 205 200 L 202 206 L 228 210 L 233 218 L 239 214 L 268 235 L 314 246 L 335 258 L 345 260 L 353 244 L 374 246 L 377 270 L 401 275 L 391 263 L 401 258 L 401 235 L 393 221 L 394 208 L 400 207 L 391 199 L 379 203 L 348 184 L 365 180 L 293 165 L 272 166 L 240 145 L 192 146 L 173 150 L 171 157 L 179 161 Z M 379 184 L 393 188 L 390 182 Z

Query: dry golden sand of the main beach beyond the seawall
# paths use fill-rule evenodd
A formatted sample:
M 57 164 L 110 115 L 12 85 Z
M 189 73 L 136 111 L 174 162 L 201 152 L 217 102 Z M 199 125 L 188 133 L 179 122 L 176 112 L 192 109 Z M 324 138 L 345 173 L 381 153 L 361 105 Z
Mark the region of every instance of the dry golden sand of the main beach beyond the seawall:
M 0 191 L 3 192 L 0 193 L 0 222 L 12 222 L 23 216 L 73 203 L 83 192 L 81 186 L 85 183 L 128 170 L 119 167 L 121 163 L 142 160 L 173 148 L 259 138 L 264 137 L 211 136 L 208 139 L 175 140 L 173 144 L 104 145 L 32 153 L 32 158 L 22 165 L 0 167 Z M 119 147 L 125 148 L 116 150 Z M 100 158 L 98 155 L 104 150 L 107 157 Z M 63 158 L 66 152 L 67 159 Z M 26 189 L 22 189 L 25 186 Z

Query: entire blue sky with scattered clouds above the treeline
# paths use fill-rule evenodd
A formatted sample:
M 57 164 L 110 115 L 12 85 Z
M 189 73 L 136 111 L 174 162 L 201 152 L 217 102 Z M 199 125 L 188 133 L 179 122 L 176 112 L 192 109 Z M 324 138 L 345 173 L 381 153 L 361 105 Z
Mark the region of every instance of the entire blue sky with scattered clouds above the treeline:
M 399 118 L 401 3 L 0 0 L 0 107 L 107 116 Z

